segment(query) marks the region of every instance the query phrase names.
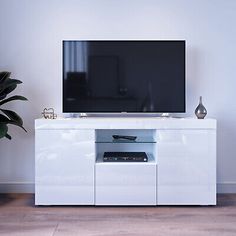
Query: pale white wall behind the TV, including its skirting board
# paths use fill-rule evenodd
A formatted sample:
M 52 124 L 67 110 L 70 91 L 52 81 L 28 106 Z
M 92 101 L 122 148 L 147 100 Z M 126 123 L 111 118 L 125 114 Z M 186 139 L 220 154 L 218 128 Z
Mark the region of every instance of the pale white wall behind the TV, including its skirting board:
M 202 95 L 218 120 L 219 191 L 236 192 L 235 12 L 234 0 L 0 0 L 0 70 L 29 99 L 10 106 L 28 133 L 0 140 L 0 190 L 32 190 L 34 119 L 62 107 L 62 39 L 186 39 L 187 113 Z

